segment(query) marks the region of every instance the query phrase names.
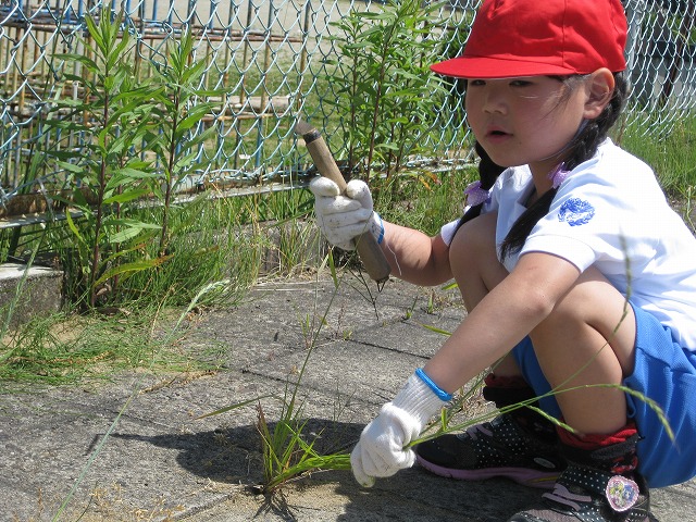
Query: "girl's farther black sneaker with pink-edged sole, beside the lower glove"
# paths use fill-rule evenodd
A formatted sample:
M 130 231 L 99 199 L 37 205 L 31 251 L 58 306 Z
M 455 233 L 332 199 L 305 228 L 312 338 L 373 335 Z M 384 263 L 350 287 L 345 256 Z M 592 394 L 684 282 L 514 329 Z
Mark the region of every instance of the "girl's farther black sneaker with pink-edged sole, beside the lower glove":
M 566 461 L 555 440 L 525 431 L 509 413 L 467 432 L 442 435 L 415 447 L 418 462 L 436 475 L 477 481 L 504 476 L 550 489 Z

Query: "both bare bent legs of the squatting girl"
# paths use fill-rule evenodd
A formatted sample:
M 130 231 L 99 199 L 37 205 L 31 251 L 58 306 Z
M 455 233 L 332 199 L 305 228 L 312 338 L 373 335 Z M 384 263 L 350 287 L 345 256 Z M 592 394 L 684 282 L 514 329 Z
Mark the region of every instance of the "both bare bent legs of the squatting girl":
M 450 266 L 468 310 L 508 275 L 496 253 L 496 220 L 493 212 L 470 221 L 450 246 Z M 580 276 L 531 338 L 552 387 L 616 385 L 633 371 L 633 309 L 594 268 Z M 495 366 L 497 376 L 520 373 L 511 356 Z M 611 433 L 626 421 L 625 397 L 616 387 L 564 391 L 557 400 L 566 422 L 582 433 Z

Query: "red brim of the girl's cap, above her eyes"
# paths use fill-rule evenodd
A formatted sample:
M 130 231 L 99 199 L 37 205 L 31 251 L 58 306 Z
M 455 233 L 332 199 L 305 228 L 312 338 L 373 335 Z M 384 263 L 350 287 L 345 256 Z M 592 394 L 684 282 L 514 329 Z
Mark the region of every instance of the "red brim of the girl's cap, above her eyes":
M 576 74 L 567 67 L 533 61 L 490 57 L 459 57 L 431 65 L 431 71 L 455 78 L 510 78 Z

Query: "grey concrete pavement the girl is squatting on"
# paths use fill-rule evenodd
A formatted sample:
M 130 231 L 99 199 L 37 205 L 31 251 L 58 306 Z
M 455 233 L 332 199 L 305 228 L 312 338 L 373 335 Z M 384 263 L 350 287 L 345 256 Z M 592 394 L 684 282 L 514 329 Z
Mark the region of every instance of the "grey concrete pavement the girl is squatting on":
M 372 294 L 372 295 L 370 295 Z M 456 290 L 351 274 L 257 285 L 234 310 L 189 321 L 183 353 L 222 353 L 216 372 L 124 373 L 104 384 L 0 396 L 0 521 L 504 521 L 539 493 L 504 480 L 463 483 L 415 467 L 360 488 L 314 473 L 274 496 L 263 481 L 254 405 L 283 395 L 314 346 L 299 398 L 322 452 L 349 449 L 363 425 L 464 314 Z M 316 335 L 319 324 L 322 327 Z M 281 400 L 260 405 L 269 421 Z M 662 522 L 696 522 L 696 483 L 652 490 Z

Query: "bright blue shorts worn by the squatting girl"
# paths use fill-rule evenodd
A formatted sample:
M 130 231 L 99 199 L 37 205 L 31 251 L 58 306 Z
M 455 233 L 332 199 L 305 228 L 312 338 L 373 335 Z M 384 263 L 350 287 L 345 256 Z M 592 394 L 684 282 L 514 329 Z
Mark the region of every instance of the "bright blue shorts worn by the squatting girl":
M 629 418 L 635 421 L 641 435 L 638 471 L 650 487 L 681 484 L 696 476 L 696 352 L 674 343 L 670 328 L 654 315 L 633 308 L 637 330 L 635 369 L 623 384 L 662 409 L 675 437 L 669 437 L 645 400 L 626 394 Z M 550 391 L 529 337 L 514 347 L 512 355 L 537 395 Z M 547 413 L 561 417 L 552 396 L 539 402 Z

